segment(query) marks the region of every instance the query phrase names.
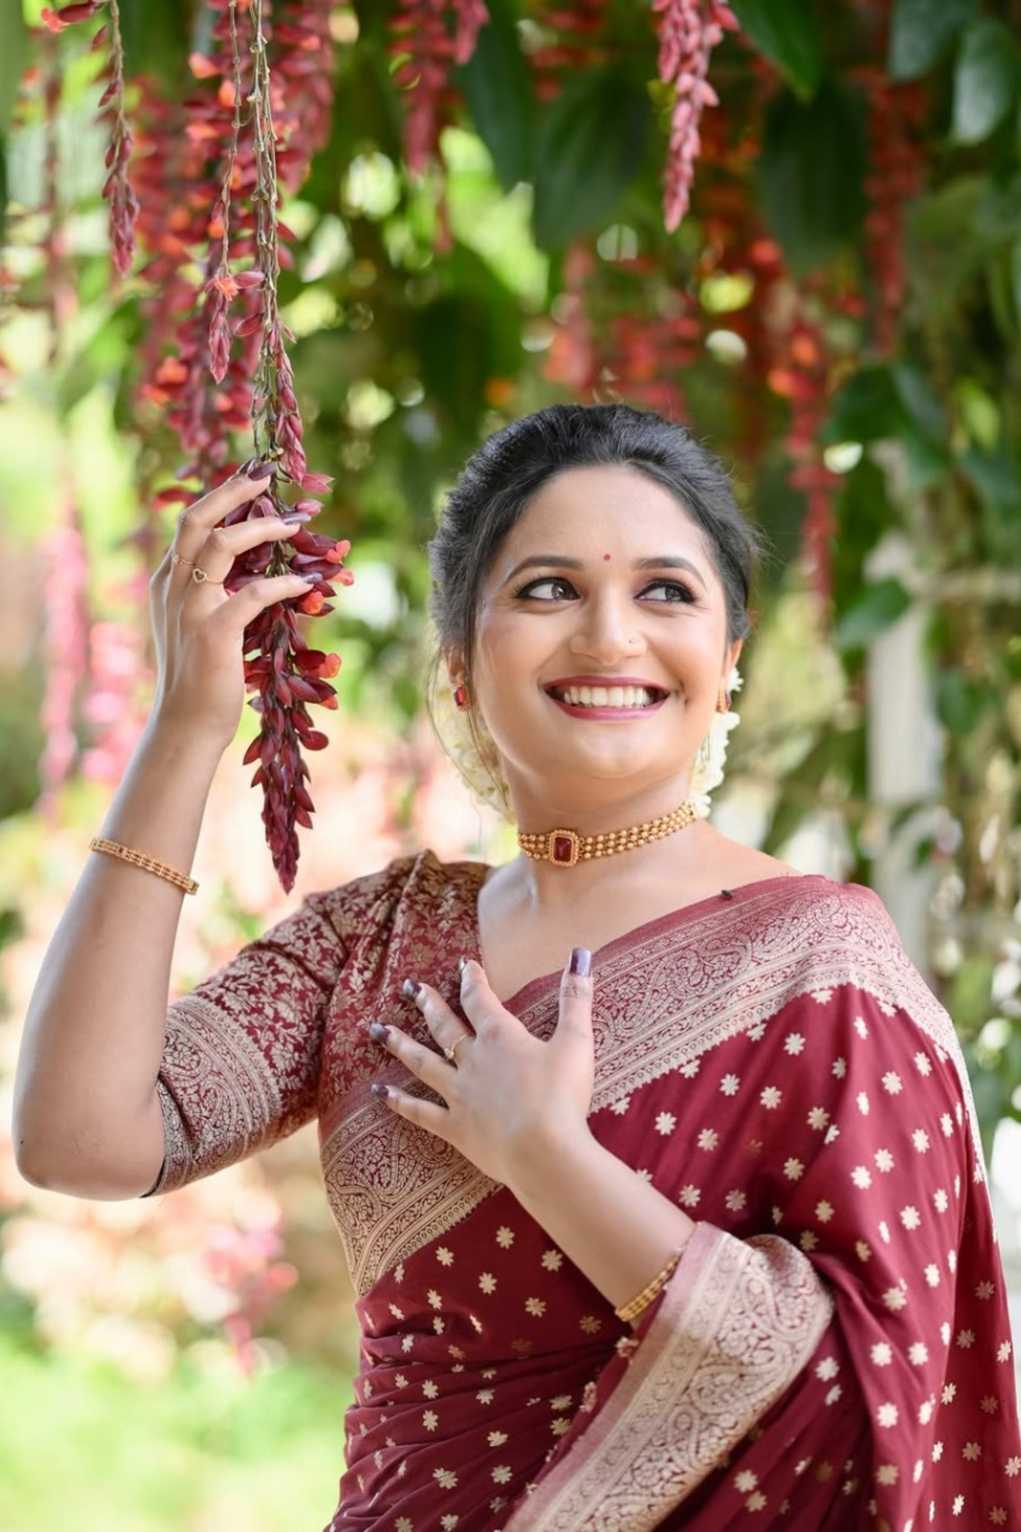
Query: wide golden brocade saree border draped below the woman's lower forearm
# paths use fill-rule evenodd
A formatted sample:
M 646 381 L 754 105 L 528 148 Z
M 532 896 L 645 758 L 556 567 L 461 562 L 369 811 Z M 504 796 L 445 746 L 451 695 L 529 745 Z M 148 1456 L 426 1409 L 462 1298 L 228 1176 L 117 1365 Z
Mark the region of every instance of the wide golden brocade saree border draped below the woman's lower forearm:
M 831 1313 L 787 1241 L 700 1224 L 611 1397 L 504 1532 L 652 1532 L 794 1382 Z

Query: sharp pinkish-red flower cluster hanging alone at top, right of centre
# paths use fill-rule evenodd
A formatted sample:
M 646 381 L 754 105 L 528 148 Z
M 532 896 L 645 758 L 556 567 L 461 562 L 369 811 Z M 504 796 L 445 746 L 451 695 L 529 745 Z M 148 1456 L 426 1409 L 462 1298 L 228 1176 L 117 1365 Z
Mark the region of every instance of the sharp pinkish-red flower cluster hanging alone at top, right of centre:
M 723 0 L 652 0 L 652 9 L 660 14 L 660 80 L 674 87 L 663 195 L 663 219 L 672 233 L 690 202 L 703 109 L 719 100 L 707 80 L 709 60 L 724 32 L 736 31 L 738 18 Z

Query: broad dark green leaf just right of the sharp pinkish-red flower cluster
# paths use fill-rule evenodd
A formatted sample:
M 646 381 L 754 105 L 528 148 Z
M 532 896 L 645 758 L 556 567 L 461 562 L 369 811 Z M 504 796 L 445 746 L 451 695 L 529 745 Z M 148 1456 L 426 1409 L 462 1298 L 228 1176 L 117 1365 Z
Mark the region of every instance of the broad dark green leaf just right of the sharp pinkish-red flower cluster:
M 796 276 L 825 265 L 854 242 L 865 211 L 863 106 L 825 81 L 810 103 L 773 98 L 758 178 L 768 225 Z

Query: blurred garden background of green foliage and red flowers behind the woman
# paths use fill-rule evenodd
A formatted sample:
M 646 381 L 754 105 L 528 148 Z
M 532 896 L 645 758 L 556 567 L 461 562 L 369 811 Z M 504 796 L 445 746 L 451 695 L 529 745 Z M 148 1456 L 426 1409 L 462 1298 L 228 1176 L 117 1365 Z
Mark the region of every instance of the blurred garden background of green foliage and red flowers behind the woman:
M 107 54 L 89 47 L 110 6 L 52 32 L 37 0 L 0 0 L 5 1100 L 46 941 L 152 694 L 145 582 L 173 525 L 159 496 L 251 452 L 243 346 L 222 388 L 204 368 L 230 118 L 205 66 L 225 9 L 119 0 L 142 213 L 116 277 Z M 690 420 L 770 547 L 713 813 L 880 890 L 961 1034 L 1016 1259 L 1016 8 L 742 0 L 718 41 L 712 9 L 488 0 L 476 35 L 455 0 L 263 3 L 279 299 L 309 467 L 335 480 L 321 525 L 352 539 L 357 574 L 312 625 L 343 669 L 295 896 L 421 844 L 507 850 L 421 703 L 422 550 L 467 453 L 557 398 Z M 683 17 L 704 51 L 678 63 L 664 43 Z M 718 104 L 695 142 L 678 109 L 706 57 Z M 664 176 L 675 213 L 687 152 L 690 210 L 667 233 Z M 243 791 L 254 729 L 214 786 L 179 988 L 288 907 Z M 104 1532 L 323 1524 L 357 1337 L 314 1135 L 129 1207 L 24 1186 L 8 1121 L 3 1532 L 69 1515 Z

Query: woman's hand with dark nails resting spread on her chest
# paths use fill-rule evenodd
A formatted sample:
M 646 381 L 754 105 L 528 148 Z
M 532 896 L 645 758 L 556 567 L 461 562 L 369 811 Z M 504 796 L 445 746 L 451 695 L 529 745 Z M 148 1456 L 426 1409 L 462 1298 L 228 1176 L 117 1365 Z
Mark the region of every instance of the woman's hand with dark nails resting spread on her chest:
M 461 974 L 461 1005 L 470 1026 L 429 985 L 407 980 L 406 993 L 426 1017 L 438 1051 L 396 1026 L 377 1023 L 370 1036 L 447 1105 L 387 1085 L 372 1089 L 400 1117 L 445 1138 L 513 1192 L 565 1135 L 588 1134 L 594 1082 L 589 961 L 583 948 L 571 954 L 550 1042 L 533 1037 L 501 1005 L 476 962 L 467 962 Z

